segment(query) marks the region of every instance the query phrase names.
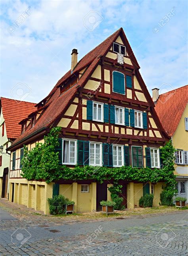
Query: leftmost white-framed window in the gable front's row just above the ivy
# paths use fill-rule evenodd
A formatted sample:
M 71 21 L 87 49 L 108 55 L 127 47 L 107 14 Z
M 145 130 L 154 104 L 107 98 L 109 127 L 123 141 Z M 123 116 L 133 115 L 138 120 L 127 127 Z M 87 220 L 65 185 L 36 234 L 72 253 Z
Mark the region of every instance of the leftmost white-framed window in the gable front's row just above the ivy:
M 63 139 L 62 141 L 62 153 L 63 153 L 63 164 L 75 165 L 77 162 L 77 140 Z

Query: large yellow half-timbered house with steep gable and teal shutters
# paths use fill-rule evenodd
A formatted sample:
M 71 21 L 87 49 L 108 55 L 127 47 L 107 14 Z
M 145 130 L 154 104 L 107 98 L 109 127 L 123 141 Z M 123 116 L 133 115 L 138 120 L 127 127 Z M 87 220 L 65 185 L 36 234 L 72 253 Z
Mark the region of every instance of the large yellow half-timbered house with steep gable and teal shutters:
M 59 160 L 70 167 L 160 168 L 159 148 L 169 139 L 122 28 L 79 62 L 77 55 L 73 49 L 71 69 L 36 105 L 37 111 L 30 114 L 30 119 L 22 121 L 25 128 L 10 147 L 10 200 L 45 213 L 54 183 L 21 179 L 20 158 L 23 144 L 29 150 L 35 147 L 52 126 L 62 127 Z M 109 181 L 100 184 L 91 177 L 85 181 L 62 179 L 58 184 L 59 194 L 75 201 L 75 212 L 100 210 L 101 200 L 111 200 L 107 188 L 113 184 Z M 121 184 L 127 208 L 138 207 L 139 198 L 147 192 L 154 194 L 153 204 L 159 205 L 163 183 Z

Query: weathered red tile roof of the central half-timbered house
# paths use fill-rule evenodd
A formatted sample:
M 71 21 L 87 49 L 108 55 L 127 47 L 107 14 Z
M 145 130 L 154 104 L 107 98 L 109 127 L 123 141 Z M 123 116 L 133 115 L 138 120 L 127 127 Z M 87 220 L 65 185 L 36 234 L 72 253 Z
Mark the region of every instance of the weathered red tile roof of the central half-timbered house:
M 36 133 L 40 129 L 47 128 L 53 124 L 53 122 L 61 115 L 61 113 L 68 106 L 69 102 L 76 94 L 78 88 L 84 85 L 84 83 L 86 82 L 86 79 L 89 77 L 89 75 L 92 73 L 92 71 L 100 61 L 100 57 L 106 55 L 107 51 L 111 47 L 112 42 L 116 40 L 116 38 L 119 36 L 121 32 L 123 33 L 123 36 L 127 41 L 126 43 L 129 47 L 129 56 L 131 56 L 131 59 L 134 60 L 135 68 L 140 68 L 132 52 L 132 49 L 130 48 L 129 42 L 125 36 L 123 29 L 122 28 L 118 29 L 115 33 L 113 33 L 110 37 L 104 40 L 101 44 L 96 46 L 96 48 L 94 48 L 92 51 L 86 54 L 78 62 L 78 64 L 75 66 L 73 70 L 73 75 L 79 72 L 80 70 L 82 70 L 84 67 L 87 67 L 86 71 L 80 77 L 76 85 L 72 86 L 69 90 L 65 91 L 61 95 L 60 95 L 59 85 L 61 85 L 61 83 L 63 83 L 66 79 L 71 77 L 72 75 L 71 71 L 69 70 L 67 73 L 65 73 L 63 77 L 61 77 L 61 79 L 59 79 L 58 83 L 56 83 L 52 91 L 46 97 L 48 98 L 50 96 L 50 100 L 48 101 L 48 104 L 49 103 L 50 104 L 48 105 L 44 113 L 41 115 L 41 117 L 39 117 L 36 120 L 35 126 L 32 128 L 28 127 L 25 133 L 21 134 L 19 138 L 13 142 L 12 146 L 14 146 L 15 144 L 18 144 L 20 141 L 24 141 L 24 139 L 26 139 L 28 136 L 31 136 L 33 133 Z

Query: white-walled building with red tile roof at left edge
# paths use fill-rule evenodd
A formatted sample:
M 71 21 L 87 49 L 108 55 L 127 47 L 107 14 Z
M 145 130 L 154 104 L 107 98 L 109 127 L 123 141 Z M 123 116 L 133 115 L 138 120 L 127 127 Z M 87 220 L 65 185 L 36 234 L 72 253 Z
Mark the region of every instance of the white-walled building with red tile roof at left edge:
M 6 148 L 21 135 L 19 122 L 36 110 L 35 103 L 0 98 L 0 196 L 7 197 L 8 173 L 10 169 L 10 155 Z

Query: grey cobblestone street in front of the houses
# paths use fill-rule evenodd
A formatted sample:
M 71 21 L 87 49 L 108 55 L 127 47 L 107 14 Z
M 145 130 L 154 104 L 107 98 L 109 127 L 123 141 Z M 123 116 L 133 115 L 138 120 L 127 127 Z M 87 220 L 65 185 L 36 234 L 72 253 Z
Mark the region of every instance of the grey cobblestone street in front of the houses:
M 50 217 L 5 200 L 1 255 L 187 255 L 188 211 L 88 218 Z M 8 218 L 8 217 L 7 217 Z M 72 219 L 72 221 L 71 221 Z

